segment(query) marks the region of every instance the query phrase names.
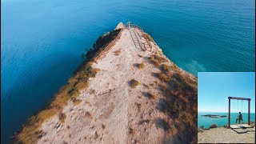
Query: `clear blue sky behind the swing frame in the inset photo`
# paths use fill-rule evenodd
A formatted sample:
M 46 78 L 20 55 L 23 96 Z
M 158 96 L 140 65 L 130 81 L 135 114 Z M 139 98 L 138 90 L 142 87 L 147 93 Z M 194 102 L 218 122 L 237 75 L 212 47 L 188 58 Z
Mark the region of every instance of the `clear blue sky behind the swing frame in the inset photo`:
M 250 111 L 255 113 L 255 73 L 198 73 L 198 112 L 227 112 L 229 96 L 251 98 Z M 231 100 L 231 112 L 238 111 L 247 113 L 248 101 Z

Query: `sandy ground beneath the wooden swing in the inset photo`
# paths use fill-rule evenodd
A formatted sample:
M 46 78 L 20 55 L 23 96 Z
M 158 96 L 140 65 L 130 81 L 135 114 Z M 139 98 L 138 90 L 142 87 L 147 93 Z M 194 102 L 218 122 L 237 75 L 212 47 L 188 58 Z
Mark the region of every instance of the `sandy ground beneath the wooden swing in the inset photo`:
M 198 133 L 198 143 L 255 143 L 255 127 L 238 131 L 247 133 L 238 134 L 224 127 L 204 130 Z

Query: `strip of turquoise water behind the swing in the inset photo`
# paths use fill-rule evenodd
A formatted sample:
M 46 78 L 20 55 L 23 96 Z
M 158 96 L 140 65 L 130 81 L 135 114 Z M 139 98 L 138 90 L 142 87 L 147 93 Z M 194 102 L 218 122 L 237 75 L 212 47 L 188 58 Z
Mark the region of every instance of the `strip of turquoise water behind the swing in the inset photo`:
M 216 114 L 216 115 L 226 115 L 226 118 L 208 118 L 202 117 L 205 114 Z M 235 124 L 235 120 L 238 116 L 238 113 L 230 114 L 230 124 Z M 244 122 L 248 122 L 248 113 L 242 113 L 242 118 Z M 250 114 L 250 122 L 255 122 L 255 113 Z M 228 113 L 210 113 L 210 112 L 199 112 L 198 113 L 198 127 L 204 126 L 204 128 L 209 128 L 210 125 L 216 123 L 218 126 L 224 126 L 228 124 Z

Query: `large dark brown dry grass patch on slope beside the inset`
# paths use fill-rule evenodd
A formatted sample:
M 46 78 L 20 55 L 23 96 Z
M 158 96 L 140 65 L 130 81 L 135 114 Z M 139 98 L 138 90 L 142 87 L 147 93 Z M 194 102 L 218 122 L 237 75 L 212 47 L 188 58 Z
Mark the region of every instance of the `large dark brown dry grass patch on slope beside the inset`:
M 185 133 L 190 135 L 187 137 L 188 142 L 196 142 L 197 137 L 194 134 L 198 133 L 196 127 L 198 121 L 197 82 L 194 82 L 179 70 L 177 72 L 173 71 L 178 69 L 176 65 L 167 66 L 162 64 L 160 68 L 162 72 L 157 73 L 156 77 L 162 81 L 158 86 L 165 97 L 160 98 L 158 110 L 174 119 L 175 122 L 179 122 L 178 126 L 180 127 L 174 128 L 175 130 L 184 131 L 187 129 Z M 171 131 L 173 134 L 174 130 Z

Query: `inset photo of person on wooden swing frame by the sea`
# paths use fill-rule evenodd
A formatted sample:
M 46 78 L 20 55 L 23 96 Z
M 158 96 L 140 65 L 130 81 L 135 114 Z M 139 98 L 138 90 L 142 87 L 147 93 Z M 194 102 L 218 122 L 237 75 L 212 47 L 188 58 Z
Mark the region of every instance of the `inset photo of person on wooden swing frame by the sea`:
M 255 72 L 198 73 L 198 143 L 255 142 Z

